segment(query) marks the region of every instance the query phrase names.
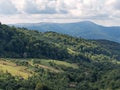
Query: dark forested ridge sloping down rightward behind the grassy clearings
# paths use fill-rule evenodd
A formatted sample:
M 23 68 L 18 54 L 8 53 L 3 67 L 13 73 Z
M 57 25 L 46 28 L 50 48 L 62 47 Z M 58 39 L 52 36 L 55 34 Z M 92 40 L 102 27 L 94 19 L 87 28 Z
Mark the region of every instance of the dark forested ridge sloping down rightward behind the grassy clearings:
M 101 43 L 55 32 L 41 33 L 0 25 L 0 57 L 111 61 L 120 60 L 119 46 L 110 41 Z

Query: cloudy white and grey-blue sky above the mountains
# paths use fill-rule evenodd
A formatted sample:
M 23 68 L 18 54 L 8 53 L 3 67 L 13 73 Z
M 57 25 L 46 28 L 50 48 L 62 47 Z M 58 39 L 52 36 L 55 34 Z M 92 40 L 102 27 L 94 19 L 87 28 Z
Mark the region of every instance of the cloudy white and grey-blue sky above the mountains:
M 5 24 L 93 21 L 120 26 L 120 0 L 0 0 Z

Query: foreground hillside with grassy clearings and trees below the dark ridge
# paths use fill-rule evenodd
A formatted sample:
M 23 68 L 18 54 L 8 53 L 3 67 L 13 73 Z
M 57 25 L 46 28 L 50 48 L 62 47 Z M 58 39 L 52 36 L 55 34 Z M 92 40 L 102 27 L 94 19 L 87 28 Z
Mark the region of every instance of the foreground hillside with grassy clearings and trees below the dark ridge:
M 1 90 L 119 90 L 120 64 L 0 59 Z

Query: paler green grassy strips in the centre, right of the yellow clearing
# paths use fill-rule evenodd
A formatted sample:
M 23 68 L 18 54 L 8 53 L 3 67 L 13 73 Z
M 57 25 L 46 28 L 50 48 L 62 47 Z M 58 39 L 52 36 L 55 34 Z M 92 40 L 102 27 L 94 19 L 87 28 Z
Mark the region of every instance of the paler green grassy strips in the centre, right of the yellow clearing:
M 68 62 L 65 62 L 65 61 L 58 61 L 58 60 L 50 60 L 50 59 L 31 59 L 31 61 L 29 61 L 29 64 L 34 66 L 34 64 L 32 63 L 32 60 L 37 60 L 37 61 L 40 61 L 40 63 L 37 63 L 35 65 L 38 65 L 39 67 L 41 68 L 44 68 L 44 69 L 47 69 L 47 70 L 50 70 L 50 71 L 53 71 L 53 72 L 62 72 L 63 70 L 61 69 L 61 67 L 66 67 L 66 68 L 73 68 L 73 69 L 78 69 L 78 65 L 75 64 L 75 63 L 68 63 Z M 54 65 L 57 65 L 58 67 L 54 67 L 54 66 L 51 66 L 50 63 L 54 64 Z

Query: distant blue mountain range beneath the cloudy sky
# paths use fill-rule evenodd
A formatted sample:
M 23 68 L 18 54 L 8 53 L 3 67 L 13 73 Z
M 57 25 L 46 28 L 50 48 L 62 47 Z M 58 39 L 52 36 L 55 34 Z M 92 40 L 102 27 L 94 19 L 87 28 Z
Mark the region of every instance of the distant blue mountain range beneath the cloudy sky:
M 86 39 L 106 39 L 120 43 L 120 27 L 105 27 L 90 21 L 77 23 L 23 23 L 14 24 L 41 32 L 54 31 Z

